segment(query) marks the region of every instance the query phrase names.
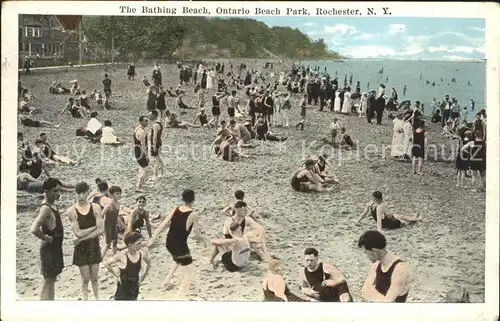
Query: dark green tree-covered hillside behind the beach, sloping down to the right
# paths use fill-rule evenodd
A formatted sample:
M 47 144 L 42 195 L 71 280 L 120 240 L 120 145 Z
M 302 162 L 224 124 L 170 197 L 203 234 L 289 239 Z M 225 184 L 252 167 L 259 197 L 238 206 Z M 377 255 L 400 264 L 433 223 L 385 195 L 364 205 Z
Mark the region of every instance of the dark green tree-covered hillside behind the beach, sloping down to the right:
M 341 59 L 324 39 L 299 29 L 269 27 L 254 19 L 205 17 L 85 16 L 89 43 L 116 56 L 136 58 Z

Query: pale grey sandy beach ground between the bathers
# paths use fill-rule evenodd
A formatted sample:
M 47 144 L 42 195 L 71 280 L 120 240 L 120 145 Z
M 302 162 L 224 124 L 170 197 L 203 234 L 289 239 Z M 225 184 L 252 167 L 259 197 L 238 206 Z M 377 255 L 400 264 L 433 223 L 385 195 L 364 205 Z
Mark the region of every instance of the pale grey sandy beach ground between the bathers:
M 252 62 L 253 63 L 253 62 Z M 249 66 L 251 63 L 247 62 Z M 264 62 L 259 62 L 263 66 Z M 226 63 L 226 70 L 229 65 Z M 134 203 L 136 163 L 132 156 L 132 131 L 137 118 L 146 113 L 145 88 L 141 78 L 151 75 L 151 66 L 137 69 L 135 81 L 126 79 L 124 69 L 110 73 L 113 80 L 114 105 L 118 109 L 97 110 L 98 119 L 110 119 L 118 137 L 126 141 L 123 148 L 101 147 L 75 137 L 75 129 L 85 121 L 69 116 L 59 117 L 68 96 L 48 94 L 53 80 L 68 84 L 78 79 L 82 89 L 90 92 L 101 89 L 104 71 L 79 71 L 40 74 L 23 77 L 22 81 L 32 90 L 37 105 L 43 113 L 37 119 L 61 123 L 60 129 L 23 128 L 30 141 L 37 134 L 46 132 L 53 148 L 60 154 L 77 159 L 77 166 L 57 165 L 52 169 L 55 177 L 76 182 L 85 180 L 92 186 L 96 177 L 118 184 L 123 188 L 124 205 Z M 163 66 L 163 81 L 176 86 L 178 73 L 173 65 Z M 354 80 L 356 80 L 355 75 Z M 362 75 L 360 75 L 362 77 Z M 69 85 L 68 85 L 69 87 Z M 187 88 L 188 105 L 194 100 L 192 87 Z M 170 102 L 172 104 L 172 102 Z M 95 103 L 92 105 L 95 107 Z M 211 107 L 208 105 L 207 107 Z M 173 108 L 170 108 L 174 110 Z M 146 192 L 148 209 L 166 215 L 173 206 L 180 204 L 180 193 L 185 188 L 196 192 L 198 209 L 207 236 L 221 237 L 224 217 L 220 210 L 233 202 L 233 193 L 242 189 L 249 206 L 266 222 L 269 249 L 282 260 L 285 278 L 293 291 L 298 291 L 298 269 L 303 264 L 303 250 L 316 247 L 321 259 L 336 264 L 347 275 L 355 301 L 361 300 L 361 286 L 369 270 L 369 261 L 357 248 L 359 235 L 374 228 L 371 219 L 356 225 L 355 220 L 370 200 L 371 193 L 384 193 L 389 211 L 399 214 L 419 212 L 425 221 L 409 228 L 386 232 L 388 248 L 406 260 L 412 270 L 409 302 L 438 302 L 449 289 L 464 286 L 471 293 L 473 302 L 484 301 L 485 260 L 485 195 L 471 192 L 470 188 L 455 187 L 455 170 L 452 162 L 439 160 L 424 163 L 424 175 L 411 174 L 411 164 L 395 162 L 379 152 L 371 160 L 356 159 L 343 154 L 342 161 L 332 158 L 341 188 L 336 193 L 301 194 L 291 190 L 289 179 L 304 157 L 320 152 L 322 137 L 327 136 L 327 125 L 334 117 L 330 112 L 318 112 L 318 107 L 308 111 L 304 131 L 279 128 L 289 139 L 285 143 L 256 142 L 257 148 L 248 150 L 255 156 L 239 163 L 228 163 L 210 157 L 208 146 L 213 139 L 213 129 L 167 129 L 164 159 L 168 175 L 161 181 L 148 182 Z M 210 114 L 210 108 L 207 108 Z M 179 115 L 179 110 L 175 108 Z M 291 120 L 299 119 L 295 104 Z M 225 110 L 222 111 L 226 116 Z M 191 121 L 194 111 L 179 118 Z M 348 129 L 360 148 L 367 144 L 389 145 L 392 139 L 392 122 L 384 118 L 383 126 L 368 125 L 364 119 L 336 115 L 341 126 Z M 293 123 L 292 121 L 292 123 Z M 313 126 L 311 124 L 317 124 Z M 440 137 L 440 129 L 430 124 L 428 144 L 448 144 Z M 449 145 L 449 144 L 448 144 Z M 204 146 L 203 152 L 200 148 Z M 447 148 L 449 153 L 449 146 Z M 325 149 L 326 152 L 330 150 Z M 349 157 L 351 155 L 351 157 Z M 449 154 L 445 155 L 450 157 Z M 75 195 L 64 194 L 59 207 L 66 209 L 75 202 Z M 29 233 L 34 210 L 39 200 L 33 195 L 18 195 L 17 214 L 17 295 L 19 299 L 37 299 L 41 275 L 39 272 L 39 240 Z M 64 254 L 66 267 L 56 284 L 56 299 L 75 300 L 80 297 L 80 275 L 71 266 L 72 232 L 63 219 L 65 228 Z M 172 266 L 165 246 L 165 236 L 159 238 L 151 250 L 153 262 L 150 274 L 141 287 L 140 300 L 169 299 L 177 292 L 161 292 L 158 285 Z M 195 277 L 191 286 L 193 300 L 242 300 L 258 301 L 262 298 L 260 282 L 266 274 L 266 265 L 252 260 L 244 272 L 229 273 L 206 264 L 209 250 L 189 241 L 195 258 Z M 102 241 L 101 241 L 102 243 Z M 174 282 L 179 284 L 177 275 Z M 115 280 L 104 267 L 100 271 L 101 299 L 108 299 L 115 291 Z

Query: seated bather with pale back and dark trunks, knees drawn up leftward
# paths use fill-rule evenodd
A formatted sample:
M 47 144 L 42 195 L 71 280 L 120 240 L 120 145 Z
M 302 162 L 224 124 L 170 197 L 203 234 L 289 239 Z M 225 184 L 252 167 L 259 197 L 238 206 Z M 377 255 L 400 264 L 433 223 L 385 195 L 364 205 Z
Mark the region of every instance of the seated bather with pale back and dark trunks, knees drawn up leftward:
M 214 260 L 218 254 L 222 253 L 221 262 L 229 272 L 240 271 L 248 264 L 250 259 L 250 243 L 243 236 L 240 229 L 240 224 L 233 222 L 229 226 L 231 238 L 212 240 L 214 250 L 210 256 L 210 264 L 214 264 Z

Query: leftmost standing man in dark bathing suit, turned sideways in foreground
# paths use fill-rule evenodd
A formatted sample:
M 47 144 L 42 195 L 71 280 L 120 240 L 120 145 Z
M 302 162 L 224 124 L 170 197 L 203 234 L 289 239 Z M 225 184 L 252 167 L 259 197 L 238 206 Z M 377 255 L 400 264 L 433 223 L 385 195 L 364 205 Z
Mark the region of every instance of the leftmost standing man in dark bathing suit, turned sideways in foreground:
M 49 177 L 43 182 L 44 199 L 31 225 L 31 233 L 42 241 L 40 262 L 43 282 L 40 300 L 54 300 L 55 282 L 64 268 L 64 228 L 59 209 L 54 205 L 61 196 L 61 187 L 61 182 L 56 178 Z

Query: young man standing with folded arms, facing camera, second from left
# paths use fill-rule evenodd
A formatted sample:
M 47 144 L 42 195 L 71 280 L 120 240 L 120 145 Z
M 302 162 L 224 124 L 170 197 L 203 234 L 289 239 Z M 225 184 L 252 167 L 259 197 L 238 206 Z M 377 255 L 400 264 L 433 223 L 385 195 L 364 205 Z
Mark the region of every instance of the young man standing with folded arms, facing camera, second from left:
M 75 192 L 78 201 L 66 212 L 71 230 L 76 236 L 73 240 L 75 246 L 73 265 L 80 269 L 82 300 L 84 301 L 88 300 L 89 281 L 92 283 L 94 298 L 99 300 L 99 264 L 102 261 L 99 236 L 104 233 L 101 207 L 87 201 L 89 190 L 87 183 L 77 183 Z

